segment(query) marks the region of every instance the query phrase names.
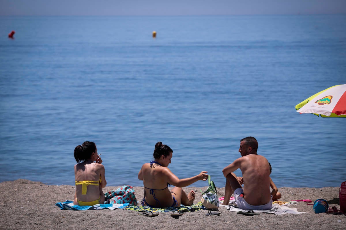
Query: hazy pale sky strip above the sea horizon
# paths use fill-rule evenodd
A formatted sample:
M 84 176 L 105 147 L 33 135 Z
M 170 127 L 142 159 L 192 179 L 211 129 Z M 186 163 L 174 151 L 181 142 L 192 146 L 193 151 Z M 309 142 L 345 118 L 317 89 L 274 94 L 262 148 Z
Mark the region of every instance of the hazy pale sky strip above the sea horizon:
M 346 0 L 0 0 L 0 15 L 239 15 L 346 13 Z

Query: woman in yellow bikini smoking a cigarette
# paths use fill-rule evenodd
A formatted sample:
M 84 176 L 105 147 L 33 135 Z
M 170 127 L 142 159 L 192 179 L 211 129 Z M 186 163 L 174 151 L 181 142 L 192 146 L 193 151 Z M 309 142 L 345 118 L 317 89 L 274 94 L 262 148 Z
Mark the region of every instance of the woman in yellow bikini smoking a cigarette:
M 85 141 L 74 149 L 76 193 L 73 204 L 93 206 L 104 203 L 102 188 L 107 184 L 104 178 L 102 159 L 97 154 L 96 144 Z

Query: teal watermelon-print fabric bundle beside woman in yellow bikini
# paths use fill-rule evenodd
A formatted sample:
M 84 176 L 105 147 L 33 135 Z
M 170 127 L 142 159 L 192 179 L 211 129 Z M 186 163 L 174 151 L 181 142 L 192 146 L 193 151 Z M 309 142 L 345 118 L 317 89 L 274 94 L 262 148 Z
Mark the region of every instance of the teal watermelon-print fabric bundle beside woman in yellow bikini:
M 111 204 L 129 203 L 129 206 L 137 205 L 135 190 L 129 185 L 124 185 L 117 190 L 104 193 L 104 200 Z

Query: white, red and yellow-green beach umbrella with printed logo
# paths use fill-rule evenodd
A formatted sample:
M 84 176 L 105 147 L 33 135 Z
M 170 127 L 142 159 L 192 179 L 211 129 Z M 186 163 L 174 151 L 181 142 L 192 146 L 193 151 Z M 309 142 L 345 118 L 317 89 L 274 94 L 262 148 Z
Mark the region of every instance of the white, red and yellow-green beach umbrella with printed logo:
M 346 84 L 322 90 L 297 104 L 295 109 L 321 117 L 346 117 Z

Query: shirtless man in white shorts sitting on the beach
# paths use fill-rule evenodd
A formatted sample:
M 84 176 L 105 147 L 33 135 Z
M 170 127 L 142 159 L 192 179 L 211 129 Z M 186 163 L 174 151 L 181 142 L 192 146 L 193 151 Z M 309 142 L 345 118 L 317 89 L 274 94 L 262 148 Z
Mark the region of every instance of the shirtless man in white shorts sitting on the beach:
M 240 140 L 239 152 L 242 157 L 236 159 L 222 172 L 226 177 L 224 205 L 228 205 L 234 193 L 236 204 L 245 210 L 269 210 L 272 208 L 270 194 L 269 164 L 265 157 L 257 155 L 258 142 L 254 137 Z M 244 190 L 233 172 L 240 168 L 243 173 Z

